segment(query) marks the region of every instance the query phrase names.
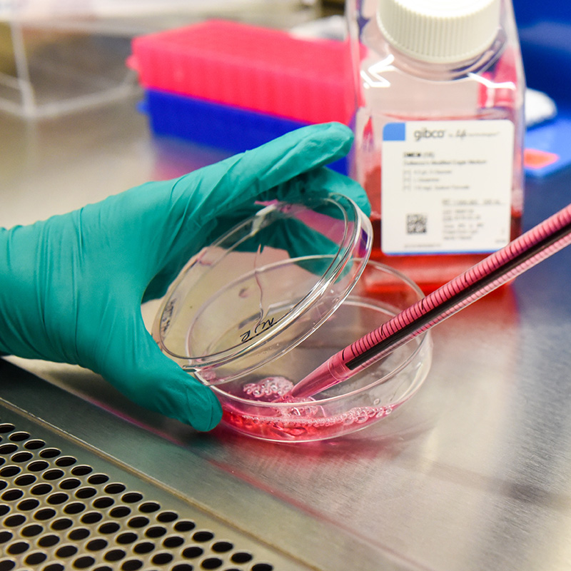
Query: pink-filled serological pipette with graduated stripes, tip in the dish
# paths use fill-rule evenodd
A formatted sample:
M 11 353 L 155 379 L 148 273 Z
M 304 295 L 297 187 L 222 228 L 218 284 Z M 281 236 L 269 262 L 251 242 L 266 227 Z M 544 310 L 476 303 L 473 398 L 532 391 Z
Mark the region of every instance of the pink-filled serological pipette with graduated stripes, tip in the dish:
M 281 400 L 315 395 L 383 359 L 571 243 L 571 204 L 330 357 Z

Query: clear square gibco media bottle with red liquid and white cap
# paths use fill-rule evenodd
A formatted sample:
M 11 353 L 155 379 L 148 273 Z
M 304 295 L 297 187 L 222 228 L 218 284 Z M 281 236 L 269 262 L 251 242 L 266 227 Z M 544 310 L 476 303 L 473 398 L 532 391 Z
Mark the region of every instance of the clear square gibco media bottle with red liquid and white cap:
M 510 0 L 348 0 L 350 174 L 371 257 L 434 290 L 520 234 L 525 79 Z

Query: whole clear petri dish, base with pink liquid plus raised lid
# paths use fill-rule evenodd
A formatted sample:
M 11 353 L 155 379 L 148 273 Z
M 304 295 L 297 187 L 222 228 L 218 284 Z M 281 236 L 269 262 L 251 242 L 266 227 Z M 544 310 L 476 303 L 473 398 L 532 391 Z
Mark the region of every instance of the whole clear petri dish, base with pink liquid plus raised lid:
M 428 335 L 312 398 L 276 400 L 422 292 L 368 262 L 370 221 L 348 198 L 258 208 L 183 269 L 156 316 L 156 342 L 211 386 L 223 423 L 256 438 L 321 440 L 385 418 L 428 374 Z

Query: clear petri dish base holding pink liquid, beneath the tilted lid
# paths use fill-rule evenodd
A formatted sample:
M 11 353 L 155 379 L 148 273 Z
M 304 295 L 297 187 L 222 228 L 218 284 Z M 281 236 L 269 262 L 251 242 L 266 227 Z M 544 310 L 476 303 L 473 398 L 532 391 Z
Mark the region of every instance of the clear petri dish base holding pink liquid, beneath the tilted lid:
M 313 397 L 295 403 L 276 400 L 333 353 L 422 297 L 420 288 L 403 274 L 369 261 L 348 297 L 303 343 L 248 378 L 213 387 L 224 411 L 223 423 L 264 440 L 309 442 L 353 433 L 386 418 L 427 377 L 432 360 L 430 333 Z

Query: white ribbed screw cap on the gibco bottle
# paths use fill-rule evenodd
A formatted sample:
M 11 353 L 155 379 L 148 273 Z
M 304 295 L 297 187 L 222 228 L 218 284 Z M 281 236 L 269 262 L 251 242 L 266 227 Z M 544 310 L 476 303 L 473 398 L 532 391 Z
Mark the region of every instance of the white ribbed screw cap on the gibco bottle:
M 500 0 L 378 0 L 378 24 L 404 54 L 451 64 L 482 54 L 500 25 Z

